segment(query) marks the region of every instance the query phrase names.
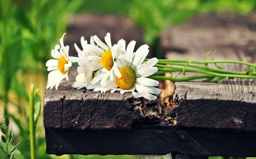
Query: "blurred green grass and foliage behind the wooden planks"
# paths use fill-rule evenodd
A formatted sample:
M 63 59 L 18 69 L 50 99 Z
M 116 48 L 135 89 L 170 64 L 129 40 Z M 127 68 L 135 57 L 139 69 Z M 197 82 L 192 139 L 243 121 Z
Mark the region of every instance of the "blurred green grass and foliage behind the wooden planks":
M 23 139 L 18 150 L 24 158 L 30 158 L 29 88 L 31 83 L 40 88 L 43 99 L 48 74 L 45 63 L 52 58 L 51 50 L 59 44 L 72 14 L 126 16 L 145 31 L 145 43 L 157 48 L 158 39 L 166 27 L 186 22 L 197 14 L 234 12 L 245 15 L 256 10 L 255 0 L 2 0 L 0 5 L 0 110 L 7 103 L 15 130 L 14 142 Z M 46 155 L 42 115 L 37 124 L 36 139 L 38 159 L 137 158 Z

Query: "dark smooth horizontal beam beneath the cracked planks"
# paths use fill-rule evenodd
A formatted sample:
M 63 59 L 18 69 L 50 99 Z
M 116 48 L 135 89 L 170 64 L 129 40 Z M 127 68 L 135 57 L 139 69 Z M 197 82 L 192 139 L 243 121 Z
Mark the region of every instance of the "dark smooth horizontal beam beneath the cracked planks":
M 45 129 L 47 154 L 256 157 L 256 132 L 141 125 L 132 130 Z M 75 136 L 75 137 L 74 137 Z

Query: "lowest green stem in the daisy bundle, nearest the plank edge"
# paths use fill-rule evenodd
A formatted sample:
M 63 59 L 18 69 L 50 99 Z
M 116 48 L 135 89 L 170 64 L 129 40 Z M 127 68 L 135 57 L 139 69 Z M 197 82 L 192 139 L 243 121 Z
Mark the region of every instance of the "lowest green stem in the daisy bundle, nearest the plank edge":
M 189 81 L 189 80 L 196 80 L 196 79 L 204 79 L 214 77 L 212 75 L 199 75 L 199 76 L 192 76 L 192 77 L 184 77 L 184 78 L 174 78 L 174 77 L 166 77 L 166 76 L 149 76 L 147 78 L 154 79 L 154 80 L 171 80 L 175 82 L 182 82 L 182 81 Z

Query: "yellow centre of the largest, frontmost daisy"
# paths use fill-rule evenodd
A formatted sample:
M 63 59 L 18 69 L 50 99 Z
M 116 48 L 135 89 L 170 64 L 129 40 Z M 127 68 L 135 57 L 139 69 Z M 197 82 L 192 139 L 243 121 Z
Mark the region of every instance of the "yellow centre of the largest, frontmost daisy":
M 132 88 L 136 80 L 135 72 L 129 66 L 122 67 L 119 71 L 121 78 L 116 76 L 117 85 L 123 90 Z

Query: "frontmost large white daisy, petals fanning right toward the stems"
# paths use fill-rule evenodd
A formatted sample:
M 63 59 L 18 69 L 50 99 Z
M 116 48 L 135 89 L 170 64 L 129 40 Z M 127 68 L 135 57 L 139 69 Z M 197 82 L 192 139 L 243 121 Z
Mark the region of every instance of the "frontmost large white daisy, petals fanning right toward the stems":
M 157 72 L 157 67 L 153 66 L 158 62 L 158 59 L 152 58 L 142 63 L 149 52 L 148 45 L 142 45 L 133 53 L 135 43 L 135 41 L 131 41 L 126 50 L 125 47 L 122 47 L 117 51 L 119 57 L 116 63 L 121 78 L 116 76 L 115 80 L 108 82 L 105 86 L 94 89 L 94 91 L 106 92 L 111 90 L 111 93 L 120 91 L 121 94 L 132 92 L 134 98 L 156 99 L 156 96 L 153 94 L 159 94 L 161 89 L 154 86 L 158 86 L 159 82 L 146 77 Z

